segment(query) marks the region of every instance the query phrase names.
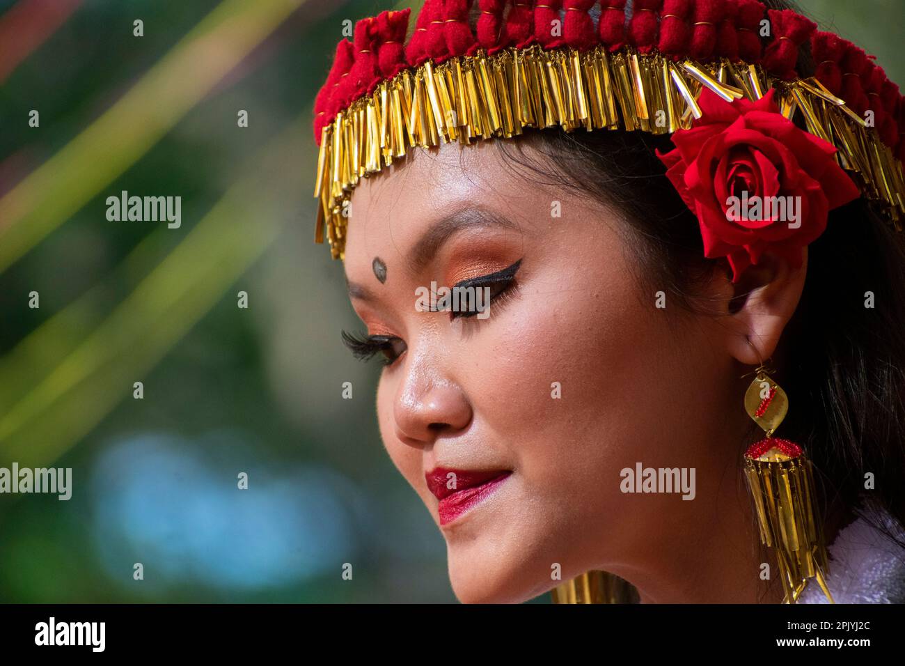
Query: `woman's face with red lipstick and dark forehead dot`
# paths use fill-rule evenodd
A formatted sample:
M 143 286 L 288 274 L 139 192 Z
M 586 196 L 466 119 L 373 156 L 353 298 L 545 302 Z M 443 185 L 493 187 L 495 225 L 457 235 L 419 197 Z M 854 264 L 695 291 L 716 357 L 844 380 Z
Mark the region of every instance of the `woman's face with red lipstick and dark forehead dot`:
M 691 588 L 717 533 L 753 548 L 720 522 L 727 503 L 747 516 L 745 370 L 719 318 L 633 279 L 614 209 L 519 169 L 492 141 L 447 144 L 354 190 L 345 269 L 376 337 L 353 346 L 388 362 L 381 435 L 446 540 L 462 602 L 525 601 L 589 569 L 668 600 L 681 591 L 656 581 L 685 583 L 663 567 Z M 486 286 L 489 309 L 422 311 L 432 284 Z M 693 485 L 624 492 L 638 465 Z

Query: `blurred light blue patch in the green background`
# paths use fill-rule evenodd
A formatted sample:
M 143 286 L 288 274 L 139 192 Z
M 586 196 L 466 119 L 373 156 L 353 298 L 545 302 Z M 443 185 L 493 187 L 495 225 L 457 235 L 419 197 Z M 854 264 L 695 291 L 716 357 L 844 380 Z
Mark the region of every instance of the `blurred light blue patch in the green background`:
M 241 471 L 247 490 L 237 487 Z M 94 537 L 108 572 L 124 583 L 141 562 L 155 587 L 298 584 L 338 576 L 353 559 L 355 494 L 329 468 L 269 468 L 232 433 L 206 442 L 146 433 L 98 459 Z

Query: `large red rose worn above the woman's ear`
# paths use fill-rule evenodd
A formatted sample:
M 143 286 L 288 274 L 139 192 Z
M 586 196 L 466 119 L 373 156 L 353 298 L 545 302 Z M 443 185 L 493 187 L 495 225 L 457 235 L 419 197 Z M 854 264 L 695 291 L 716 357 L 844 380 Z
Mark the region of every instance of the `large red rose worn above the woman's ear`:
M 705 88 L 699 104 L 701 118 L 673 133 L 676 149 L 657 156 L 698 217 L 704 256 L 727 257 L 732 282 L 766 250 L 799 267 L 801 248 L 824 233 L 829 211 L 860 196 L 835 147 L 787 120 L 772 90 L 758 101 L 729 103 Z M 778 198 L 793 205 L 784 216 L 772 206 Z M 760 215 L 738 214 L 738 202 L 758 199 Z M 767 203 L 772 214 L 764 216 Z

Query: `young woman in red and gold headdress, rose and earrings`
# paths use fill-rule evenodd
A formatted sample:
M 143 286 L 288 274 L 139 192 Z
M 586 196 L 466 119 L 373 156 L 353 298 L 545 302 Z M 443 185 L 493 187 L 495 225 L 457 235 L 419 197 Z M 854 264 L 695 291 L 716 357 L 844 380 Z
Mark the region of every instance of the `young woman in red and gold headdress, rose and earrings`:
M 338 46 L 317 234 L 457 597 L 905 601 L 898 87 L 776 2 L 408 18 Z

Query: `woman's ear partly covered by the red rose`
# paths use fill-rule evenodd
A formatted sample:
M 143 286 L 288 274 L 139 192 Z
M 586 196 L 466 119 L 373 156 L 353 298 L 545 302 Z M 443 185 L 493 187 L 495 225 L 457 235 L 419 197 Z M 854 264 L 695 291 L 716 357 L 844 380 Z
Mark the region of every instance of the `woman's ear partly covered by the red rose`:
M 757 365 L 776 352 L 779 337 L 798 307 L 805 275 L 806 247 L 798 268 L 783 257 L 765 253 L 757 265 L 739 275 L 737 283 L 729 282 L 720 290 L 720 310 L 724 323 L 729 323 L 727 351 L 738 362 Z

